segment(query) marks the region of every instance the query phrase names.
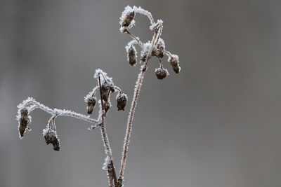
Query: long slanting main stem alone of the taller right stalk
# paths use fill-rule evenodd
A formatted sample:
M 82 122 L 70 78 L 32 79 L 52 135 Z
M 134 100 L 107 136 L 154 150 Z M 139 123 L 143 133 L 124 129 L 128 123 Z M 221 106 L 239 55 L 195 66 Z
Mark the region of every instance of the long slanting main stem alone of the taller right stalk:
M 119 171 L 120 179 L 122 179 L 122 180 L 124 178 L 124 169 L 126 167 L 126 158 L 127 158 L 127 154 L 128 154 L 131 131 L 133 128 L 133 116 L 135 114 L 136 104 L 138 102 L 138 97 L 141 92 L 141 85 L 143 84 L 145 71 L 148 69 L 147 68 L 148 60 L 152 53 L 152 48 L 155 46 L 155 43 L 157 43 L 157 39 L 159 39 L 159 34 L 161 34 L 161 32 L 159 32 L 160 29 L 162 29 L 162 27 L 159 27 L 153 35 L 148 56 L 145 58 L 145 62 L 143 63 L 143 66 L 141 67 L 141 72 L 138 74 L 138 80 L 136 81 L 135 91 L 133 92 L 133 100 L 131 102 L 131 109 L 129 111 L 129 117 L 128 117 L 128 122 L 127 122 L 127 127 L 126 127 L 126 134 L 125 134 L 125 138 L 124 138 L 121 167 L 120 167 L 120 171 Z

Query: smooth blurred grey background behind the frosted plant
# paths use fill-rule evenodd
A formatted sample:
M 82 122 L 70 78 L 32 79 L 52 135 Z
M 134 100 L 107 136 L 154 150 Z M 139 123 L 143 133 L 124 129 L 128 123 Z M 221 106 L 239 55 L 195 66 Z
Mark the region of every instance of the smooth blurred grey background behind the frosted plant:
M 1 0 L 0 186 L 107 186 L 99 130 L 58 118 L 55 152 L 41 134 L 50 117 L 42 111 L 32 112 L 32 132 L 18 139 L 16 106 L 30 96 L 86 113 L 97 68 L 131 102 L 139 66 L 126 62 L 131 39 L 119 32 L 128 4 L 164 20 L 162 38 L 182 71 L 174 74 L 165 59 L 170 76 L 159 81 L 158 62 L 150 63 L 125 186 L 280 186 L 281 2 L 254 0 Z M 150 40 L 148 19 L 136 22 L 132 32 Z M 129 106 L 117 113 L 113 104 L 107 131 L 119 170 Z

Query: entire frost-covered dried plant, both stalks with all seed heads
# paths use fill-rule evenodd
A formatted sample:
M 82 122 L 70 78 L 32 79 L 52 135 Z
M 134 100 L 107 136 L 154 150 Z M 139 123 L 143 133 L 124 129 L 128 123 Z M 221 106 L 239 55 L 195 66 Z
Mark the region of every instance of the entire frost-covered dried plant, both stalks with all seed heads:
M 149 28 L 153 34 L 151 41 L 143 43 L 141 39 L 129 32 L 129 29 L 131 29 L 133 25 L 136 24 L 134 20 L 136 14 L 146 15 L 150 20 Z M 51 118 L 48 120 L 47 126 L 43 130 L 43 135 L 46 144 L 52 144 L 55 151 L 60 151 L 60 139 L 58 139 L 58 133 L 55 128 L 55 119 L 58 118 L 58 116 L 69 116 L 72 118 L 77 118 L 79 120 L 85 120 L 86 122 L 92 124 L 91 127 L 89 127 L 90 130 L 99 127 L 106 154 L 105 162 L 103 163 L 103 169 L 107 171 L 108 184 L 110 187 L 124 186 L 124 169 L 126 166 L 126 158 L 128 155 L 131 130 L 133 127 L 133 116 L 135 114 L 136 104 L 140 95 L 145 71 L 148 69 L 149 60 L 152 59 L 152 57 L 156 57 L 157 60 L 159 60 L 159 67 L 155 69 L 155 74 L 160 80 L 166 78 L 166 76 L 169 76 L 168 70 L 164 69 L 164 65 L 162 63 L 162 58 L 164 57 L 164 55 L 168 56 L 168 62 L 169 64 L 171 64 L 171 67 L 176 72 L 176 74 L 181 71 L 178 55 L 171 54 L 168 50 L 166 50 L 165 42 L 161 38 L 163 29 L 162 20 L 157 20 L 157 22 L 155 22 L 155 20 L 152 18 L 152 14 L 149 11 L 145 11 L 141 7 L 133 6 L 132 8 L 131 6 L 126 6 L 120 18 L 120 25 L 120 31 L 122 33 L 129 34 L 133 39 L 129 41 L 129 43 L 127 43 L 125 47 L 129 64 L 131 64 L 132 66 L 136 66 L 137 64 L 137 51 L 135 47 L 137 45 L 141 48 L 140 63 L 142 65 L 141 71 L 138 74 L 138 78 L 136 81 L 131 108 L 127 120 L 119 177 L 117 177 L 117 173 L 115 172 L 115 165 L 112 159 L 110 141 L 108 139 L 105 128 L 105 117 L 107 116 L 107 113 L 112 106 L 112 104 L 110 103 L 110 95 L 112 93 L 117 92 L 116 101 L 118 111 L 124 111 L 128 97 L 124 93 L 122 93 L 122 90 L 119 87 L 115 86 L 112 78 L 108 77 L 107 74 L 101 69 L 97 69 L 96 73 L 94 74 L 94 78 L 97 79 L 98 85 L 96 85 L 96 87 L 93 88 L 93 90 L 91 90 L 91 92 L 89 92 L 89 94 L 84 98 L 84 102 L 86 102 L 86 111 L 89 115 L 93 113 L 93 108 L 98 103 L 99 114 L 97 119 L 90 118 L 90 116 L 85 116 L 84 114 L 65 109 L 51 109 L 48 106 L 37 102 L 32 97 L 28 97 L 18 105 L 18 115 L 16 117 L 18 120 L 18 131 L 20 134 L 20 139 L 22 139 L 25 132 L 27 130 L 30 130 L 30 127 L 28 126 L 32 120 L 30 113 L 34 109 L 41 109 L 43 111 L 46 111 L 46 113 L 51 114 Z M 99 92 L 100 99 L 97 99 L 96 97 L 96 95 L 98 95 L 97 92 Z

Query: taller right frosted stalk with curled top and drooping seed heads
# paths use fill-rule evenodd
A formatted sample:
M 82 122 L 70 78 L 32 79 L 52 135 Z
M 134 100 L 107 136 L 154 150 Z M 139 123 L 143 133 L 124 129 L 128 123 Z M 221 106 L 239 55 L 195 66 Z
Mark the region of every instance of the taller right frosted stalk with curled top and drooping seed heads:
M 153 32 L 152 41 L 148 41 L 147 43 L 141 43 L 140 39 L 131 32 L 129 32 L 129 29 L 133 27 L 135 24 L 135 21 L 133 20 L 136 13 L 140 13 L 143 15 L 148 16 L 150 19 L 150 30 Z M 163 79 L 166 76 L 169 75 L 169 72 L 164 69 L 161 58 L 164 56 L 164 50 L 165 50 L 165 43 L 164 40 L 161 39 L 162 35 L 162 29 L 163 29 L 163 21 L 157 20 L 157 22 L 154 22 L 154 19 L 152 18 L 152 15 L 150 12 L 145 11 L 141 7 L 133 6 L 131 8 L 130 6 L 126 6 L 125 10 L 122 13 L 122 16 L 120 18 L 120 31 L 122 33 L 129 34 L 135 41 L 130 41 L 126 46 L 126 52 L 128 55 L 128 61 L 131 65 L 136 65 L 136 48 L 133 47 L 133 44 L 138 43 L 138 45 L 141 46 L 141 62 L 143 62 L 143 65 L 141 66 L 141 71 L 138 74 L 138 79 L 136 81 L 135 90 L 133 92 L 133 100 L 131 102 L 131 109 L 129 111 L 129 117 L 127 121 L 126 126 L 126 134 L 124 137 L 124 145 L 123 145 L 123 151 L 122 151 L 122 159 L 121 159 L 121 167 L 119 171 L 119 179 L 118 179 L 118 186 L 123 186 L 124 181 L 124 169 L 126 167 L 126 158 L 128 154 L 128 148 L 129 148 L 129 142 L 131 137 L 131 131 L 133 127 L 133 116 L 136 111 L 136 104 L 138 102 L 138 97 L 141 92 L 141 86 L 143 84 L 143 79 L 145 75 L 145 71 L 148 69 L 148 61 L 151 57 L 155 56 L 159 59 L 159 68 L 155 69 L 155 74 L 158 79 Z M 170 55 L 170 54 L 169 54 Z M 176 55 L 177 56 L 177 55 Z M 175 58 L 174 58 L 175 59 Z M 178 60 L 178 58 L 177 58 Z M 169 60 L 171 61 L 171 60 Z M 174 67 L 178 66 L 178 62 L 175 64 Z M 173 67 L 173 65 L 172 65 Z M 173 69 L 174 69 L 173 67 Z M 178 66 L 179 67 L 179 66 Z M 180 70 L 180 69 L 179 69 Z M 176 71 L 176 70 L 175 70 Z M 176 71 L 178 73 L 179 71 Z

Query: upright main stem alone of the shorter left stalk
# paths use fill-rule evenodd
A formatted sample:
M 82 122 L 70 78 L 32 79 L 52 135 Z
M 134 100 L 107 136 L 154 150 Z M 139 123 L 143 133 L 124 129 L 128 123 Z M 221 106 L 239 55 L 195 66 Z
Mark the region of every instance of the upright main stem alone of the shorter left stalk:
M 108 140 L 106 128 L 105 128 L 105 111 L 104 111 L 104 104 L 102 99 L 102 92 L 101 92 L 101 85 L 100 85 L 100 77 L 98 77 L 98 85 L 100 87 L 100 104 L 101 104 L 101 126 L 100 126 L 100 133 L 103 139 L 103 146 L 105 146 L 105 154 L 109 157 L 110 163 L 107 163 L 107 176 L 108 176 L 108 183 L 110 187 L 114 187 L 117 183 L 117 176 L 115 172 L 115 166 L 112 160 L 112 151 L 110 148 L 110 141 Z

